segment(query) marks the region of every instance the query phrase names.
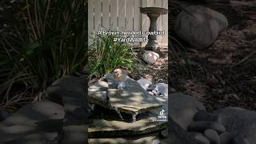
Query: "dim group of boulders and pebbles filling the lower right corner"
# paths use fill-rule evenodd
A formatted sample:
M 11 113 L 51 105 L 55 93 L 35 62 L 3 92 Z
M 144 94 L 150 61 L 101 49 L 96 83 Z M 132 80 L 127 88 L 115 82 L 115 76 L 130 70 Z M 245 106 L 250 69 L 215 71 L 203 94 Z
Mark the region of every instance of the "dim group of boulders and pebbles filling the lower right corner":
M 169 94 L 170 118 L 204 144 L 254 144 L 256 112 L 227 107 L 208 113 L 196 98 L 181 93 Z M 182 143 L 183 144 L 183 143 Z M 185 144 L 185 143 L 184 143 Z

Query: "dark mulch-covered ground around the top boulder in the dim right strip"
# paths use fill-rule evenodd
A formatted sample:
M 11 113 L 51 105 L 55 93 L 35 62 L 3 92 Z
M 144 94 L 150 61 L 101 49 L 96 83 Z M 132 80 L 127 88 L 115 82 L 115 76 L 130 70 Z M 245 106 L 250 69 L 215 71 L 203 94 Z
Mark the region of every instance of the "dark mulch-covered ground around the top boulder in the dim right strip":
M 170 50 L 171 92 L 190 94 L 208 110 L 256 110 L 256 2 L 208 7 L 224 14 L 229 26 L 209 48 L 195 50 L 182 42 L 185 50 Z M 170 14 L 175 16 L 178 10 Z

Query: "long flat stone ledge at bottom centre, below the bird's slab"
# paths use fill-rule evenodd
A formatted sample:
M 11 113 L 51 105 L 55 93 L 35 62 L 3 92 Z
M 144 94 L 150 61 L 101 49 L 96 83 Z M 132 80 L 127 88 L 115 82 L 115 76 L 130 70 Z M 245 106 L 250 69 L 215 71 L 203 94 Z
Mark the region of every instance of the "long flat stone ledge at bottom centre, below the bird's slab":
M 167 128 L 167 122 L 153 121 L 155 117 L 141 119 L 135 122 L 95 119 L 89 125 L 89 138 L 114 138 L 148 134 Z

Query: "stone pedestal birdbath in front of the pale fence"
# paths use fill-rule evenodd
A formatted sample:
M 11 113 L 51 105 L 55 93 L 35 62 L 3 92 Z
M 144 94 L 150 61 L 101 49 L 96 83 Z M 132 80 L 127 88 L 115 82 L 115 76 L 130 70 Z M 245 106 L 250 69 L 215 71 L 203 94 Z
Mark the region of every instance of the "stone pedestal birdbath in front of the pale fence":
M 167 14 L 168 10 L 160 7 L 141 7 L 140 11 L 142 14 L 146 14 L 150 18 L 150 32 L 158 31 L 157 20 L 161 14 Z M 145 48 L 147 50 L 158 50 L 158 37 L 157 35 L 148 35 L 149 41 Z

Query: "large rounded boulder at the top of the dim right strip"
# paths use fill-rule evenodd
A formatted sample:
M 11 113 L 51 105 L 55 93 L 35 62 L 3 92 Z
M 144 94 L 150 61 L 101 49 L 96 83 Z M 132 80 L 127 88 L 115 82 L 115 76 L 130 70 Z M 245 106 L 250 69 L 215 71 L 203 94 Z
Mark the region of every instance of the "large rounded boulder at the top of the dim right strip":
M 228 21 L 223 14 L 204 6 L 187 6 L 174 22 L 178 36 L 198 49 L 213 44 L 227 26 Z

